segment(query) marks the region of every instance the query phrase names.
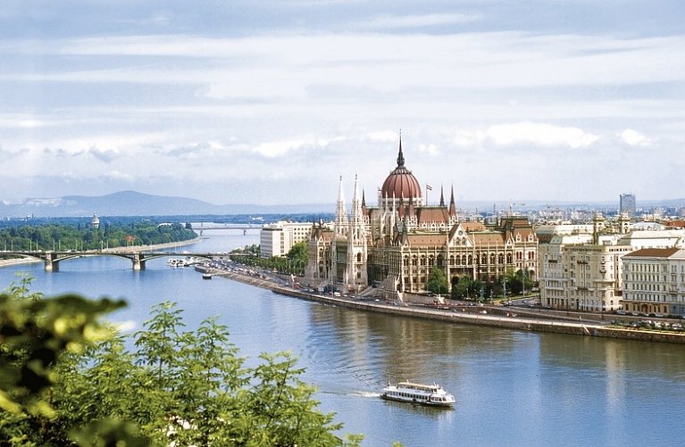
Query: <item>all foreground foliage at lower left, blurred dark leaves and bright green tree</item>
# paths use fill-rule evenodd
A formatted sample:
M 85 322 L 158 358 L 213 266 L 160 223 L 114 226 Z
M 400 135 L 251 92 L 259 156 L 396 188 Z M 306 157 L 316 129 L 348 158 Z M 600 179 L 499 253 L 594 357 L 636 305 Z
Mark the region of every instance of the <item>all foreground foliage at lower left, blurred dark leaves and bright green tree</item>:
M 288 352 L 246 368 L 228 329 L 184 330 L 175 303 L 121 335 L 97 319 L 121 302 L 42 299 L 26 282 L 0 300 L 0 444 L 358 446 Z M 129 343 L 130 342 L 130 343 Z M 127 350 L 132 345 L 134 350 Z

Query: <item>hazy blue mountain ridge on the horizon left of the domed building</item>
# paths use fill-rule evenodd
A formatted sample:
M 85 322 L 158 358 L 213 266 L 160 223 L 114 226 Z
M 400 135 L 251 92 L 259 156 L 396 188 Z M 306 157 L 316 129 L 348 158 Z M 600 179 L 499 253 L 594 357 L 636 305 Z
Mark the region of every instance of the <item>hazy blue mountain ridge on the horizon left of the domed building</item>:
M 2 217 L 170 216 L 200 214 L 266 214 L 329 212 L 331 204 L 303 205 L 215 205 L 187 197 L 147 195 L 121 191 L 110 195 L 66 195 L 0 202 Z

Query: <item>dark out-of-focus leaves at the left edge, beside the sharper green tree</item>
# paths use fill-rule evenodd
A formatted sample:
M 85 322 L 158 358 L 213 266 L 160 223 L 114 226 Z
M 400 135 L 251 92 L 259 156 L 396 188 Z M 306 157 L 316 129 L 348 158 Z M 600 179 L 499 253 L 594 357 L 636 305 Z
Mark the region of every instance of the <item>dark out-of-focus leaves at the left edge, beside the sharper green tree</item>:
M 29 282 L 23 277 L 0 294 L 0 443 L 43 444 L 35 440 L 43 438 L 56 445 L 63 440 L 52 422 L 59 412 L 52 400 L 59 359 L 104 336 L 99 317 L 124 303 L 71 294 L 45 300 L 29 294 Z

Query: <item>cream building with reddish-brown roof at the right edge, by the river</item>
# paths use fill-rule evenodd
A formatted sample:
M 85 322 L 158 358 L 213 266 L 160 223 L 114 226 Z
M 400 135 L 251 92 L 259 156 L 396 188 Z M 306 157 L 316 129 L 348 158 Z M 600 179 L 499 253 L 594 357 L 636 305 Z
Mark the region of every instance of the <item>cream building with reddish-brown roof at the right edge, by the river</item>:
M 685 317 L 685 250 L 645 248 L 622 261 L 623 310 Z

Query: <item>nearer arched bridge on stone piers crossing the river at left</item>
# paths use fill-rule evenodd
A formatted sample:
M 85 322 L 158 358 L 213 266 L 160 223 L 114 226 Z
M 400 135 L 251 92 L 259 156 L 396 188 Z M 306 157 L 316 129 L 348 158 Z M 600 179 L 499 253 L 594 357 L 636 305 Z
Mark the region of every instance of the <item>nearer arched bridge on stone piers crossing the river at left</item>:
M 68 252 L 44 252 L 44 251 L 21 251 L 21 252 L 0 252 L 5 256 L 18 258 L 34 258 L 45 263 L 46 271 L 58 271 L 61 261 L 66 261 L 74 258 L 82 258 L 84 256 L 117 256 L 119 258 L 126 258 L 131 261 L 134 270 L 145 270 L 146 261 L 152 261 L 157 258 L 164 257 L 192 257 L 205 258 L 208 261 L 213 261 L 215 257 L 226 256 L 220 253 L 206 253 L 206 252 L 140 252 L 132 250 L 70 250 Z

